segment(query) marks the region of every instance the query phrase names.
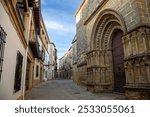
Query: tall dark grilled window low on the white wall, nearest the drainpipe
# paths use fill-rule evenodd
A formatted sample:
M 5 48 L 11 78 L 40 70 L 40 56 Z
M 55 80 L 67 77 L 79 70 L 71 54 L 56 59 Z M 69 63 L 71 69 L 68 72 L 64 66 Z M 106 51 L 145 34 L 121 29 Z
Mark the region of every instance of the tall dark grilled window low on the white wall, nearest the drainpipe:
M 19 91 L 21 89 L 22 62 L 23 62 L 23 56 L 18 51 L 18 53 L 17 53 L 17 61 L 16 61 L 14 93 L 16 93 L 17 91 Z

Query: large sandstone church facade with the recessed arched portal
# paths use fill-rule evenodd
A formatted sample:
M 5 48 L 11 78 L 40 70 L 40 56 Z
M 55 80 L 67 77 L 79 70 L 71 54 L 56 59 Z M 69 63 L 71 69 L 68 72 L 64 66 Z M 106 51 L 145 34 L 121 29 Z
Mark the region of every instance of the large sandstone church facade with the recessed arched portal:
M 149 0 L 83 1 L 75 14 L 78 83 L 150 99 L 149 6 Z

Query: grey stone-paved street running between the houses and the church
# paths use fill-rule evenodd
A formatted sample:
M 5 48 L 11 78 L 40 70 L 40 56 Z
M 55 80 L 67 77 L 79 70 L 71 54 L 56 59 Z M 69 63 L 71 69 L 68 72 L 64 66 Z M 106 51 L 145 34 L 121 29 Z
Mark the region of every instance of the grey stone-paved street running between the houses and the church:
M 114 93 L 91 93 L 72 80 L 51 80 L 33 88 L 26 100 L 120 100 L 123 95 Z

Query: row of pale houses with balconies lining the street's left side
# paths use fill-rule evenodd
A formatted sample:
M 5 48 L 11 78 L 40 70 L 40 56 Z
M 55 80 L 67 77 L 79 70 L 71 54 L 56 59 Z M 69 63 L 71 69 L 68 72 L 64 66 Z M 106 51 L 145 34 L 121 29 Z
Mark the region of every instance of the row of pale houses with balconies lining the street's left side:
M 24 99 L 47 80 L 50 40 L 40 0 L 0 0 L 0 99 Z

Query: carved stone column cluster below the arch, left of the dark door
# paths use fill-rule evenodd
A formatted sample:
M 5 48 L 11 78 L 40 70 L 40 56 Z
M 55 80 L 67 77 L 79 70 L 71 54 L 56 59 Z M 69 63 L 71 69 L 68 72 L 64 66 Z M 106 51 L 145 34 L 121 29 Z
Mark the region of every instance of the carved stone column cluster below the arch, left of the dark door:
M 108 58 L 110 51 L 93 50 L 87 54 L 88 57 L 88 90 L 93 92 L 105 92 L 112 90 L 112 72 Z M 104 89 L 104 87 L 106 90 Z M 100 88 L 101 87 L 101 88 Z

